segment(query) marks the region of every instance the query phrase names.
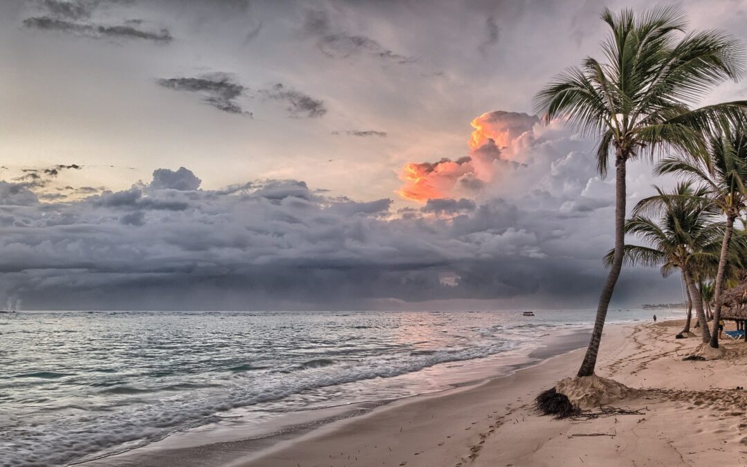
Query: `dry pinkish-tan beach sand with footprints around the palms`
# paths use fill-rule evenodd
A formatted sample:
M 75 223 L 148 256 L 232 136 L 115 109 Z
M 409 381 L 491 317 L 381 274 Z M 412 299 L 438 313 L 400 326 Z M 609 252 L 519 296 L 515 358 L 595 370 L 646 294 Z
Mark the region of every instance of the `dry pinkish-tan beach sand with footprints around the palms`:
M 241 467 L 744 466 L 747 344 L 725 359 L 685 362 L 699 336 L 681 321 L 607 327 L 597 373 L 633 389 L 613 405 L 639 415 L 554 420 L 537 415 L 542 389 L 572 375 L 583 350 L 480 386 L 400 400 L 280 442 Z

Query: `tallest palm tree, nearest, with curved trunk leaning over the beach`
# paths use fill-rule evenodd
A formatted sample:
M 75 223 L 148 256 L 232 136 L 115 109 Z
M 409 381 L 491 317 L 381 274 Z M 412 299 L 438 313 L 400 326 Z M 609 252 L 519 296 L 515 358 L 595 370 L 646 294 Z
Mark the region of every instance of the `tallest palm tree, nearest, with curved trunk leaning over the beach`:
M 534 99 L 545 123 L 561 119 L 598 137 L 597 166 L 616 170 L 615 253 L 604 283 L 594 330 L 577 376 L 594 374 L 607 308 L 624 259 L 625 169 L 628 161 L 663 151 L 701 154 L 704 133 L 747 117 L 747 101 L 691 108 L 709 90 L 737 79 L 743 50 L 721 31 L 684 34 L 684 14 L 675 7 L 632 10 L 601 18 L 610 36 L 601 45 L 604 59 L 586 58 L 580 67 L 557 75 Z

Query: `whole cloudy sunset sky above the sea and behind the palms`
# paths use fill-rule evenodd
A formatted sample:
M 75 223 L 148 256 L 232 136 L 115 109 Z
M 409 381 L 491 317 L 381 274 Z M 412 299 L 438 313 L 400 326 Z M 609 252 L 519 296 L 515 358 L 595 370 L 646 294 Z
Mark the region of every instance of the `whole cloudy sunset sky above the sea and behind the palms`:
M 743 1 L 678 5 L 747 43 Z M 1 2 L 0 302 L 593 308 L 613 180 L 531 102 L 605 6 L 648 2 Z M 679 300 L 628 268 L 613 306 Z

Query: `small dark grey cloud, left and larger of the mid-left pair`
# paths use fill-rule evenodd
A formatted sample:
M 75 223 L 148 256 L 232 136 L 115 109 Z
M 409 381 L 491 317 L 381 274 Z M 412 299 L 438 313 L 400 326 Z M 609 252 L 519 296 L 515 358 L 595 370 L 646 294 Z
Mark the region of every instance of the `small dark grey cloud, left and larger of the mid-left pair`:
M 202 94 L 203 102 L 229 114 L 252 116 L 236 100 L 247 90 L 226 73 L 214 73 L 199 78 L 162 78 L 158 84 L 167 89 Z

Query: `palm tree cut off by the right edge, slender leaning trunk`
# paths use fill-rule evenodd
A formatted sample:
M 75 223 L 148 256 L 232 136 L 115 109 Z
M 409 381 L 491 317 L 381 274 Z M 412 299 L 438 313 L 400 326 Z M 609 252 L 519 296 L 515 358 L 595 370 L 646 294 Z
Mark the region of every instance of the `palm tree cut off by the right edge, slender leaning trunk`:
M 713 288 L 713 333 L 710 346 L 719 347 L 719 321 L 721 304 L 719 297 L 726 279 L 727 256 L 734 232 L 734 220 L 747 207 L 747 133 L 730 132 L 710 138 L 710 151 L 707 158 L 684 155 L 681 158 L 665 158 L 657 164 L 657 173 L 675 173 L 702 182 L 710 188 L 710 199 L 726 217 L 719 267 Z

